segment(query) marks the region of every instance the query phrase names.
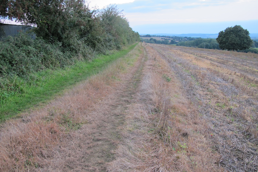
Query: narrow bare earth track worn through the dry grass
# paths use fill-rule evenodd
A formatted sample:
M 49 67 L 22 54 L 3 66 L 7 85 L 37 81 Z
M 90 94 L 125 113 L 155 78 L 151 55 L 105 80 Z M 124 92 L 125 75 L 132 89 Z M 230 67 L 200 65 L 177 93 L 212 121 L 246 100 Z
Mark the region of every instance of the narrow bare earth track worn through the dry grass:
M 102 111 L 106 116 L 96 132 L 91 133 L 91 147 L 88 147 L 90 154 L 85 155 L 86 164 L 83 167 L 85 171 L 107 171 L 106 164 L 114 160 L 113 152 L 116 149 L 116 144 L 121 142 L 121 136 L 117 127 L 124 123 L 125 111 L 127 106 L 135 103 L 133 96 L 136 93 L 139 82 L 141 81 L 142 69 L 145 56 L 140 56 L 134 69 L 132 69 L 129 80 L 124 88 L 119 91 L 110 104 L 108 102 L 104 107 L 109 107 L 107 111 Z M 106 108 L 104 108 L 106 109 Z M 99 110 L 100 111 L 100 110 Z

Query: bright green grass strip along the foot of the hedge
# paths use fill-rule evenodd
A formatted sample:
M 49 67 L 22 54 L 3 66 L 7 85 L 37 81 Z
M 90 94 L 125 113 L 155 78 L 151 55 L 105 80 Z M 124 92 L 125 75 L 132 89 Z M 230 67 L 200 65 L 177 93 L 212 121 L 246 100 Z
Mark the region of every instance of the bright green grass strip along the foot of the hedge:
M 21 96 L 8 97 L 8 103 L 0 107 L 0 121 L 17 117 L 17 115 L 29 108 L 39 106 L 53 99 L 62 90 L 73 86 L 74 84 L 87 79 L 94 73 L 99 73 L 110 62 L 120 57 L 124 57 L 130 52 L 137 43 L 128 46 L 112 55 L 100 55 L 91 62 L 77 62 L 75 65 L 53 71 L 48 77 L 48 82 L 40 87 L 26 88 L 29 93 Z

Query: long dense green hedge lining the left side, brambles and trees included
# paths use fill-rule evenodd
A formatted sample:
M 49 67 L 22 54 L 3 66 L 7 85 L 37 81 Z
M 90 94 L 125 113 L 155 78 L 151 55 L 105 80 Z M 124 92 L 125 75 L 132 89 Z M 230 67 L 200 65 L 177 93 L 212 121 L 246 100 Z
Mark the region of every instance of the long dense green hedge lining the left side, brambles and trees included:
M 34 18 L 31 19 L 32 17 L 29 18 L 27 15 L 18 18 L 26 24 L 38 25 L 34 29 L 37 39 L 32 40 L 26 34 L 20 33 L 15 38 L 8 37 L 2 40 L 0 42 L 0 75 L 26 77 L 31 72 L 71 65 L 75 60 L 91 59 L 95 54 L 106 54 L 109 50 L 121 49 L 122 46 L 140 41 L 139 34 L 132 31 L 127 19 L 114 5 L 99 11 L 91 11 L 84 1 L 57 2 L 65 6 L 63 11 L 60 11 L 61 14 L 54 16 L 59 17 L 60 21 L 42 24 L 42 21 L 38 23 L 37 19 L 41 17 L 50 20 L 51 12 L 58 11 L 56 4 L 52 6 L 50 4 L 47 8 L 50 14 L 42 12 L 43 17 L 37 16 L 32 13 L 31 9 L 29 11 L 26 8 L 26 12 L 29 15 L 33 14 Z M 37 4 L 29 5 L 35 8 L 34 10 L 38 6 Z M 47 28 L 50 24 L 51 30 Z

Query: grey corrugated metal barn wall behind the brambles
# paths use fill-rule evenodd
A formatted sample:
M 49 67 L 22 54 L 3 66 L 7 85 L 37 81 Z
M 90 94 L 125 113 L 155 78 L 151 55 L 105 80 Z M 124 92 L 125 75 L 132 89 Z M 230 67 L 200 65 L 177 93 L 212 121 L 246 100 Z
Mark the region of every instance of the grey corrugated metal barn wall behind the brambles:
M 32 26 L 10 25 L 10 24 L 0 23 L 0 40 L 6 38 L 7 36 L 18 35 L 19 32 L 27 32 L 32 39 L 36 39 L 35 33 L 29 32 L 31 29 L 33 29 Z

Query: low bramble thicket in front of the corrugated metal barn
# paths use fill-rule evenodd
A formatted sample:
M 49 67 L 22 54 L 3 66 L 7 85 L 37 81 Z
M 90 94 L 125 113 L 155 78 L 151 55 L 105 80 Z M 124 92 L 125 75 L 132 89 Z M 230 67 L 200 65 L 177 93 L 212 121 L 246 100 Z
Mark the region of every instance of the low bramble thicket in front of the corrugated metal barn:
M 69 51 L 63 52 L 61 44 L 49 44 L 41 39 L 33 40 L 24 33 L 15 38 L 9 36 L 1 41 L 0 49 L 0 75 L 25 78 L 39 70 L 71 65 L 76 55 Z M 89 58 L 88 56 L 84 58 Z

